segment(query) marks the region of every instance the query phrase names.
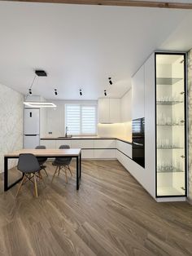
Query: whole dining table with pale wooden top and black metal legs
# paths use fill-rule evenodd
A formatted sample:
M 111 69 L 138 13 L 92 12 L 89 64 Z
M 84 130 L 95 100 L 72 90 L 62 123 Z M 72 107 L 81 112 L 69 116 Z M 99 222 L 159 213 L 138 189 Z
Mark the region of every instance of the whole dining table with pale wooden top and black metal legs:
M 20 179 L 16 179 L 13 183 L 9 184 L 9 159 L 17 159 L 20 157 L 20 154 L 30 153 L 35 157 L 63 157 L 68 158 L 72 157 L 76 159 L 76 190 L 79 190 L 81 183 L 81 148 L 64 148 L 64 149 L 20 149 L 14 152 L 9 152 L 4 155 L 4 191 L 9 190 L 16 183 L 19 183 L 23 178 L 23 175 Z

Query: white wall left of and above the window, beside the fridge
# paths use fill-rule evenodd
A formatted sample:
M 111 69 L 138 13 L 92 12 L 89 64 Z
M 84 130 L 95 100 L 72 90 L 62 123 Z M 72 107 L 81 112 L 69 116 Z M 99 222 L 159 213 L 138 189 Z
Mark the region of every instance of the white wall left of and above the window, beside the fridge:
M 65 104 L 97 104 L 96 100 L 55 100 L 57 108 L 46 108 L 41 114 L 41 138 L 47 136 L 59 137 L 65 134 Z M 45 117 L 46 116 L 46 117 Z M 52 134 L 49 134 L 52 132 Z

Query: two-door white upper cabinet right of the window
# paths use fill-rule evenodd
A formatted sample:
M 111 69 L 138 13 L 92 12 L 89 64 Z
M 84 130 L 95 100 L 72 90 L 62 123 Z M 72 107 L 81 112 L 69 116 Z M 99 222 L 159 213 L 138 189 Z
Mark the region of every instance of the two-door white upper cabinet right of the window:
M 120 99 L 98 99 L 98 122 L 120 122 Z

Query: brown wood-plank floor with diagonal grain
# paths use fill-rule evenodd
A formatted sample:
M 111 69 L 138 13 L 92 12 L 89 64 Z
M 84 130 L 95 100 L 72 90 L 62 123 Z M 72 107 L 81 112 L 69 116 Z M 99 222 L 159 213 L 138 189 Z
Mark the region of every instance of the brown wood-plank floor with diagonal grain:
M 0 255 L 192 255 L 191 205 L 156 203 L 118 161 L 84 161 L 78 192 L 75 162 L 68 184 L 47 166 L 38 198 L 1 176 Z

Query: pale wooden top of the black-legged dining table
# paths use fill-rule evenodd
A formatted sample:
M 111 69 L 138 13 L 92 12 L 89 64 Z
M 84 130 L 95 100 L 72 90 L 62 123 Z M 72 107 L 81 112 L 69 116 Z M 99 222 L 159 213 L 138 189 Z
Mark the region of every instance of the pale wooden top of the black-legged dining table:
M 81 148 L 68 149 L 20 149 L 15 152 L 10 152 L 4 157 L 19 157 L 20 154 L 29 153 L 36 157 L 78 157 L 81 153 Z

